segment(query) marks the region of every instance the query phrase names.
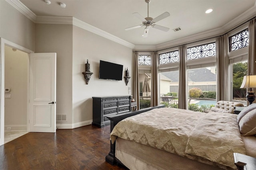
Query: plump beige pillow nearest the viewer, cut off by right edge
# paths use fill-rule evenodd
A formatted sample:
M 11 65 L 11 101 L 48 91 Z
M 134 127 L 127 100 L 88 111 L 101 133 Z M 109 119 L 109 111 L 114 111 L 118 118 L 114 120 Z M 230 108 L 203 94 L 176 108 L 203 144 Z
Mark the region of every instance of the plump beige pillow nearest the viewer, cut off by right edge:
M 240 133 L 243 136 L 256 135 L 256 109 L 249 111 L 239 121 Z

